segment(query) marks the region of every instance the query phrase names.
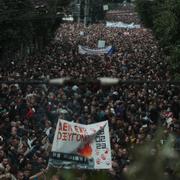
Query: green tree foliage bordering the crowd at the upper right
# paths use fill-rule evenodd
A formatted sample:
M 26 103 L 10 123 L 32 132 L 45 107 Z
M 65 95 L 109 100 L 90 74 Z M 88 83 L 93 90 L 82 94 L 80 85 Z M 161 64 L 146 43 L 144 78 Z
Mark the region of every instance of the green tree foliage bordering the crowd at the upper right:
M 153 32 L 165 53 L 171 57 L 172 72 L 180 77 L 180 1 L 179 0 L 136 0 L 136 9 L 145 26 Z

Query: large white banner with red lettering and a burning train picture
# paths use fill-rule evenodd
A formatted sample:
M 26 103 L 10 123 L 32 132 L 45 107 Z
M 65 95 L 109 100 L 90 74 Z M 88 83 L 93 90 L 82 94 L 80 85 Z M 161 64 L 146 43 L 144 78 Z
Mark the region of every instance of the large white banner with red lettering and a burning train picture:
M 65 169 L 110 169 L 108 121 L 82 125 L 59 119 L 48 166 Z

